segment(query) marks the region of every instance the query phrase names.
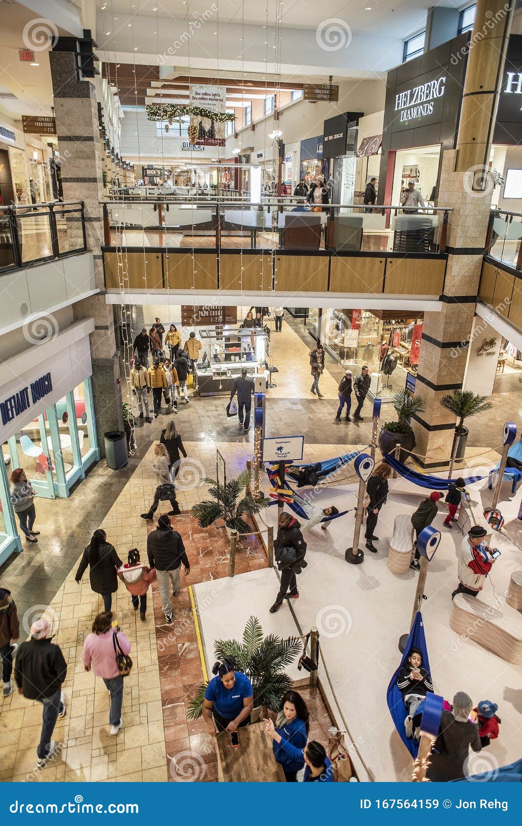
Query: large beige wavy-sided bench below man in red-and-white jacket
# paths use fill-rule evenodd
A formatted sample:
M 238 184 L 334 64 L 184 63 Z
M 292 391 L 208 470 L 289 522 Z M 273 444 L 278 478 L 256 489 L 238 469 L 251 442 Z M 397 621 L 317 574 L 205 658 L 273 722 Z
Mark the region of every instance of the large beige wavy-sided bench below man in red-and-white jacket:
M 449 627 L 503 660 L 522 665 L 522 617 L 502 614 L 478 597 L 457 594 Z

